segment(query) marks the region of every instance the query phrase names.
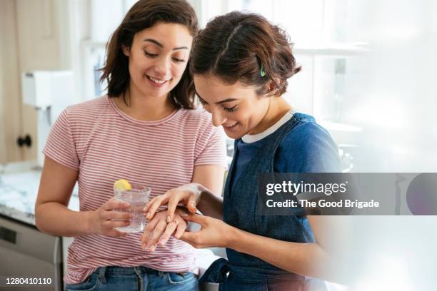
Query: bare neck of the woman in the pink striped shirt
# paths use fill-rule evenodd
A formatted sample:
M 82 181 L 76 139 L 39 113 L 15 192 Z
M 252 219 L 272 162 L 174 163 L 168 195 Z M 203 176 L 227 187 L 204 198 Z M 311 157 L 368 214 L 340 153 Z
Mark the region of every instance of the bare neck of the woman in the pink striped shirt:
M 136 90 L 134 86 L 129 86 L 125 100 L 123 96 L 115 98 L 117 107 L 131 118 L 139 121 L 158 121 L 169 116 L 176 109 L 166 95 L 146 96 Z

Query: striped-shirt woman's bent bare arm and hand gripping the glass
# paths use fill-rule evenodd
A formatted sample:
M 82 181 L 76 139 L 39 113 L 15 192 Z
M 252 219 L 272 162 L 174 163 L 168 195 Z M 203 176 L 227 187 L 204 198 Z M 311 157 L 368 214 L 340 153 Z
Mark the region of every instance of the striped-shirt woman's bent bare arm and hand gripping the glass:
M 73 211 L 67 208 L 78 177 L 79 171 L 45 158 L 35 204 L 36 227 L 44 233 L 66 237 L 91 233 L 125 235 L 114 228 L 129 225 L 129 213 L 111 210 L 127 208 L 129 205 L 111 199 L 93 211 Z

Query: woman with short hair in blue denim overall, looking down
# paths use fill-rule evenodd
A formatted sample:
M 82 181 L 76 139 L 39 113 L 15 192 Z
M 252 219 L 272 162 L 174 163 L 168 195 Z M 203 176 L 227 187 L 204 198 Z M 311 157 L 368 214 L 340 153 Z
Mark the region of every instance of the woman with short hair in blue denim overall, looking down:
M 151 200 L 145 215 L 150 219 L 168 204 L 171 223 L 176 205 L 184 203 L 193 213 L 185 219 L 202 229 L 181 239 L 194 247 L 226 247 L 227 260 L 216 260 L 200 282 L 219 282 L 220 290 L 306 290 L 306 277 L 326 277 L 330 257 L 320 217 L 258 214 L 259 175 L 339 171 L 331 136 L 281 97 L 298 71 L 285 32 L 257 14 L 218 16 L 196 38 L 196 93 L 214 125 L 236 140 L 223 201 L 189 184 Z M 197 209 L 204 215 L 194 214 Z M 168 239 L 151 233 L 146 230 L 144 242 Z

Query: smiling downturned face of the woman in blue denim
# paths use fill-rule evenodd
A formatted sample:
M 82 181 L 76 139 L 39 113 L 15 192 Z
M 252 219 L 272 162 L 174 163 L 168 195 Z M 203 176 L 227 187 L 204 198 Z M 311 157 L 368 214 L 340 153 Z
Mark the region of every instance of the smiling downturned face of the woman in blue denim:
M 230 138 L 261 132 L 271 98 L 258 96 L 257 88 L 237 81 L 228 85 L 216 76 L 194 75 L 196 93 L 214 126 L 223 126 Z

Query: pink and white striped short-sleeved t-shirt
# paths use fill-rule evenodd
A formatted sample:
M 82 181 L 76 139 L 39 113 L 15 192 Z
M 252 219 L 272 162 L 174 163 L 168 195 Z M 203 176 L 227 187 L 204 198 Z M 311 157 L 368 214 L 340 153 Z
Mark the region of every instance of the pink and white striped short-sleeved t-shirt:
M 190 183 L 195 165 L 226 167 L 223 131 L 212 126 L 206 113 L 179 109 L 160 121 L 138 121 L 107 96 L 66 108 L 51 129 L 44 154 L 79 170 L 81 211 L 96 210 L 109 200 L 114 181 L 121 178 L 152 188 L 154 197 Z M 74 238 L 64 281 L 82 282 L 106 265 L 172 272 L 196 268 L 191 245 L 170 238 L 148 252 L 141 249 L 141 235 Z

